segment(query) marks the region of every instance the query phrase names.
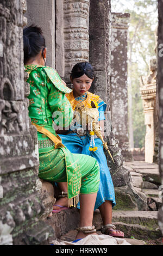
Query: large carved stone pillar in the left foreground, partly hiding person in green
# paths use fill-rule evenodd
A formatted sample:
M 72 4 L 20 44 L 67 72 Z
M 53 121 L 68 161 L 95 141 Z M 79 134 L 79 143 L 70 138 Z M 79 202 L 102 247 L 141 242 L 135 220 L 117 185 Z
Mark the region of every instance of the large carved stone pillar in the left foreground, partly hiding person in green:
M 38 216 L 40 203 L 37 136 L 28 117 L 29 84 L 24 83 L 25 0 L 0 3 L 0 244 L 39 245 L 51 234 Z

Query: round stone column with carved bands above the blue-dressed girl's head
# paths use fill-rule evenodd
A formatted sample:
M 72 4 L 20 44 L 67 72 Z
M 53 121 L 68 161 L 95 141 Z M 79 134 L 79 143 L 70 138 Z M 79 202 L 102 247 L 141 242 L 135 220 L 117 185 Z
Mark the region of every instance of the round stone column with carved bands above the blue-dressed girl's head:
M 89 0 L 64 0 L 65 81 L 71 69 L 89 60 Z

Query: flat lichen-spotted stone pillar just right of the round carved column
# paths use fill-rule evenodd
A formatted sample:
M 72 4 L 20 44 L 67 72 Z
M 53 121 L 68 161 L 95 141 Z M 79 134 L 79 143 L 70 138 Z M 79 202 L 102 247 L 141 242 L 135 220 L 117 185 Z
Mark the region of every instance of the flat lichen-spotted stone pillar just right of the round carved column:
M 110 1 L 90 1 L 90 56 L 89 61 L 95 71 L 95 82 L 91 92 L 95 93 L 108 103 L 110 110 L 110 40 L 111 40 L 111 13 Z

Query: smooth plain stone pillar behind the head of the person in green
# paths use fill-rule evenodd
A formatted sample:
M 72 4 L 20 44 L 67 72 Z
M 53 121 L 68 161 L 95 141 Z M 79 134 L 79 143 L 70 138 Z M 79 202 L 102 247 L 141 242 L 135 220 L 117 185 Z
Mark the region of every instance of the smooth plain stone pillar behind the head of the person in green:
M 46 64 L 55 69 L 55 0 L 27 0 L 26 17 L 28 26 L 34 24 L 43 29 L 47 47 Z

